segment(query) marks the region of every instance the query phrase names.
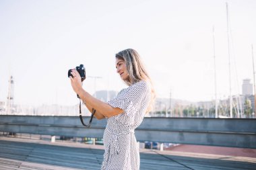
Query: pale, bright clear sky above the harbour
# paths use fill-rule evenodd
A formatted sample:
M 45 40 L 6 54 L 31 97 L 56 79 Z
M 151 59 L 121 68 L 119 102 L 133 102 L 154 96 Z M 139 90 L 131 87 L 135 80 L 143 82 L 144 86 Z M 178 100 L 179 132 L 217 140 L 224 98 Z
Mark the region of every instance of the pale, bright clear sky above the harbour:
M 169 97 L 171 90 L 177 99 L 212 100 L 213 26 L 218 99 L 228 97 L 226 2 L 236 95 L 243 79 L 253 83 L 254 0 L 0 0 L 0 101 L 6 101 L 13 75 L 15 103 L 73 105 L 67 71 L 81 63 L 88 76 L 84 89 L 119 91 L 126 86 L 116 73 L 115 54 L 125 48 L 141 54 L 158 97 Z

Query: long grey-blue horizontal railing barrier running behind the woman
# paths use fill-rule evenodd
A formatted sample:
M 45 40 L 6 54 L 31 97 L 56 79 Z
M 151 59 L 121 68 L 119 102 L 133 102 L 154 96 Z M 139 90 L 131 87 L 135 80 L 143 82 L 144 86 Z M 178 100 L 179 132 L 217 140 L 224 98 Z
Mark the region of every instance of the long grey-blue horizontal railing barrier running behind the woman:
M 106 120 L 95 119 L 84 128 L 78 116 L 0 116 L 1 132 L 102 138 L 105 127 Z M 144 118 L 135 136 L 138 141 L 256 148 L 256 119 Z

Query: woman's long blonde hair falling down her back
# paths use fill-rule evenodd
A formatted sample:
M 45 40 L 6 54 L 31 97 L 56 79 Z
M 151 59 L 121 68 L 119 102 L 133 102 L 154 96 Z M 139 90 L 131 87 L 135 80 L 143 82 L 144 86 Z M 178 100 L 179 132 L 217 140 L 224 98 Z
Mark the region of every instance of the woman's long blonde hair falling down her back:
M 128 48 L 126 50 L 122 50 L 121 52 L 118 52 L 116 54 L 116 58 L 119 58 L 125 61 L 125 66 L 129 74 L 129 79 L 125 81 L 127 85 L 129 86 L 133 85 L 134 83 L 137 83 L 138 81 L 141 81 L 141 80 L 150 82 L 151 99 L 150 99 L 150 105 L 146 111 L 147 113 L 150 112 L 154 105 L 154 99 L 156 97 L 156 93 L 154 90 L 154 85 L 152 83 L 152 80 L 150 79 L 150 76 L 148 75 L 145 67 L 143 66 L 143 63 L 141 62 L 139 53 L 136 50 Z

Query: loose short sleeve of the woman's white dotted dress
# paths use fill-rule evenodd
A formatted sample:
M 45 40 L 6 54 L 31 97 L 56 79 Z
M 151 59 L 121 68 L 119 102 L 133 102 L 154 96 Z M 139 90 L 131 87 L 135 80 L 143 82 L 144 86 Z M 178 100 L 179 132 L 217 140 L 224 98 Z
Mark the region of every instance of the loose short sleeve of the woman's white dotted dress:
M 129 110 L 137 110 L 143 108 L 143 105 L 148 105 L 150 100 L 150 85 L 146 81 L 139 81 L 131 85 L 127 91 L 122 91 L 108 101 L 108 104 L 113 108 L 121 108 L 124 112 Z

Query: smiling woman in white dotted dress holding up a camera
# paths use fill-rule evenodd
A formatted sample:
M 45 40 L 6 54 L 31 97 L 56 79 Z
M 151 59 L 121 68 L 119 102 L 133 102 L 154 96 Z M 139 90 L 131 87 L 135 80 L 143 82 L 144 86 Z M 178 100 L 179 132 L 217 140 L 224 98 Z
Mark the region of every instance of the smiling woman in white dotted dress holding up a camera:
M 139 147 L 134 130 L 152 108 L 154 88 L 135 50 L 117 53 L 115 64 L 117 73 L 129 87 L 107 103 L 82 88 L 81 77 L 75 69 L 71 72 L 71 85 L 88 110 L 96 110 L 94 116 L 97 119 L 108 119 L 103 136 L 105 153 L 101 169 L 139 169 Z

